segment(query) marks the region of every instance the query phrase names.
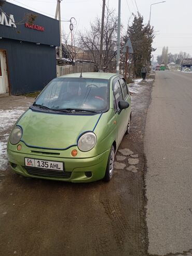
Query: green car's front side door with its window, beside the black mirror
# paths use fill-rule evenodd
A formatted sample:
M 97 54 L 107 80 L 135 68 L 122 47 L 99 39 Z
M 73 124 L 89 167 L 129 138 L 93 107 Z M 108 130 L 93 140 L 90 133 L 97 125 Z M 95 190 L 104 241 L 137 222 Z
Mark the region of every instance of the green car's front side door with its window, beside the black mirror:
M 122 137 L 125 134 L 125 127 L 126 127 L 126 111 L 125 109 L 119 109 L 118 102 L 123 101 L 124 97 L 122 94 L 122 89 L 120 86 L 119 77 L 113 83 L 113 94 L 114 94 L 114 109 L 115 109 L 115 118 L 116 118 L 116 125 L 117 125 L 117 147 L 119 146 Z

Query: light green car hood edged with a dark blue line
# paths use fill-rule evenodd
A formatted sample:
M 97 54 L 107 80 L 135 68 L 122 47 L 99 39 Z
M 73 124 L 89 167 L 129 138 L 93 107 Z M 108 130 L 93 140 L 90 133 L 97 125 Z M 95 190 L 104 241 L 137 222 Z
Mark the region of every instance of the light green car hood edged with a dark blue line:
M 21 141 L 28 146 L 67 149 L 77 144 L 81 133 L 93 131 L 100 116 L 101 114 L 50 114 L 29 109 L 17 125 L 23 130 Z

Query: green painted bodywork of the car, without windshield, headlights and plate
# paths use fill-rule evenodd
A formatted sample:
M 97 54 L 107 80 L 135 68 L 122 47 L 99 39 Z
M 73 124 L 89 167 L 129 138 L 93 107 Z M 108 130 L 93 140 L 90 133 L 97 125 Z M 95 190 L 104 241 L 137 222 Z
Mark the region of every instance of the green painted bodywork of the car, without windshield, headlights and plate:
M 71 74 L 57 79 L 78 79 L 79 76 L 80 74 Z M 9 137 L 7 145 L 8 161 L 16 173 L 26 177 L 71 182 L 90 182 L 103 179 L 106 176 L 112 147 L 116 152 L 126 131 L 129 131 L 131 119 L 130 94 L 126 83 L 126 89 L 125 84 L 124 88 L 122 87 L 125 80 L 121 75 L 83 73 L 83 78 L 107 80 L 107 109 L 98 113 L 75 111 L 70 113 L 56 111 L 54 113 L 42 111 L 41 108 L 38 110 L 30 107 L 13 127 L 13 129 L 19 127 L 22 130 L 20 141 L 11 144 Z M 116 84 L 116 88 L 118 87 L 117 83 L 121 89 L 123 103 L 129 103 L 123 109 L 119 109 L 116 104 L 115 97 L 118 97 L 119 93 L 118 96 L 114 96 L 114 84 Z M 127 93 L 125 90 L 127 90 Z M 127 95 L 124 96 L 124 94 Z M 94 133 L 97 142 L 91 150 L 81 151 L 78 148 L 78 140 L 81 135 L 87 132 Z M 18 148 L 18 145 L 21 149 Z M 76 150 L 76 156 L 72 155 L 73 150 Z M 25 159 L 42 160 L 45 163 L 46 161 L 52 161 L 53 164 L 62 163 L 63 171 L 46 169 L 43 168 L 44 166 L 41 168 L 28 167 Z M 42 161 L 40 161 L 41 165 L 44 164 Z M 56 165 L 56 168 L 59 167 Z

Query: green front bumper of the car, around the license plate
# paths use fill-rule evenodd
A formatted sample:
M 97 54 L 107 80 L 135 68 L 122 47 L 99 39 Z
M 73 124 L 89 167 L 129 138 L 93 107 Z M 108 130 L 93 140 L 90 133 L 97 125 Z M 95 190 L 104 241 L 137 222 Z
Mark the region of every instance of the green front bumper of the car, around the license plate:
M 11 168 L 16 173 L 26 177 L 70 182 L 91 182 L 102 179 L 104 177 L 109 152 L 110 149 L 98 156 L 79 159 L 76 157 L 64 158 L 52 157 L 47 155 L 25 154 L 11 151 L 9 149 L 7 150 L 7 155 Z M 63 174 L 58 176 L 58 173 L 56 171 L 56 175 L 54 176 L 54 170 L 46 170 L 40 168 L 29 169 L 25 167 L 25 157 L 45 161 L 63 162 Z

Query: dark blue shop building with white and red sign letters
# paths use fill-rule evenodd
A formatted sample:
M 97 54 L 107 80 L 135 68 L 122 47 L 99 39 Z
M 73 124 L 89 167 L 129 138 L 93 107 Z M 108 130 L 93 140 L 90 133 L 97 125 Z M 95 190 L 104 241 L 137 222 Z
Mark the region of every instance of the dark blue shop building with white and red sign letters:
M 5 3 L 0 10 L 0 93 L 18 95 L 42 90 L 57 76 L 59 21 Z M 29 15 L 35 15 L 33 25 Z

